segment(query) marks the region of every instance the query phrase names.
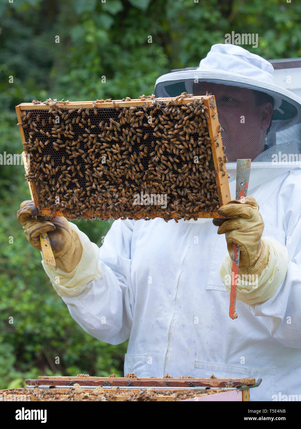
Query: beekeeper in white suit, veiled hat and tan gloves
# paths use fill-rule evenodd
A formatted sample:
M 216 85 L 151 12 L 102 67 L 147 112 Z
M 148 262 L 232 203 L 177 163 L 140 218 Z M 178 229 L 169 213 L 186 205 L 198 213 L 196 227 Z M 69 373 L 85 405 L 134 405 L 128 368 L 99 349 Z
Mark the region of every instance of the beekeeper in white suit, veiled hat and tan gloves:
M 33 247 L 49 233 L 57 266 L 43 268 L 73 319 L 100 341 L 129 338 L 125 373 L 262 378 L 252 400 L 301 398 L 301 169 L 289 161 L 301 153 L 301 99 L 272 73 L 258 55 L 219 44 L 198 69 L 156 82 L 156 97 L 215 95 L 232 198 L 236 159 L 252 159 L 252 196 L 221 207 L 234 219 L 218 230 L 211 219 L 118 220 L 98 248 L 75 224 L 37 220 L 33 202 L 21 204 Z M 236 320 L 233 243 L 239 273 L 255 278 L 238 279 Z

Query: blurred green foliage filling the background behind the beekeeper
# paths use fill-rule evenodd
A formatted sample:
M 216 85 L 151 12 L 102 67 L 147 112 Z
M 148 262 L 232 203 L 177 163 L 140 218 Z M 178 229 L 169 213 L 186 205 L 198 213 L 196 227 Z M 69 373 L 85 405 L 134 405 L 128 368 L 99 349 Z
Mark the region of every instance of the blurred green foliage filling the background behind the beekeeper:
M 152 94 L 158 76 L 197 66 L 231 31 L 258 33 L 258 48 L 246 48 L 267 59 L 301 57 L 299 2 L 18 0 L 0 13 L 0 154 L 22 151 L 18 103 Z M 23 166 L 0 165 L 0 388 L 43 374 L 122 375 L 126 344 L 74 322 L 27 243 L 15 213 L 29 198 Z M 100 246 L 111 223 L 76 224 Z

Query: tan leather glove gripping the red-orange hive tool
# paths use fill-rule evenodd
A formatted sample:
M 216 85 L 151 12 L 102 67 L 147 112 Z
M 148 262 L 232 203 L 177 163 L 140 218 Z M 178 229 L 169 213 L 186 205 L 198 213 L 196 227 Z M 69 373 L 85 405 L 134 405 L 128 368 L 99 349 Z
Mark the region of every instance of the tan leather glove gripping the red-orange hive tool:
M 227 219 L 214 219 L 213 224 L 218 226 L 218 234 L 225 234 L 228 253 L 232 259 L 233 245 L 240 248 L 239 274 L 261 275 L 268 265 L 269 248 L 261 240 L 265 224 L 259 213 L 257 201 L 253 196 L 246 196 L 240 200 L 232 200 L 222 205 L 218 212 Z

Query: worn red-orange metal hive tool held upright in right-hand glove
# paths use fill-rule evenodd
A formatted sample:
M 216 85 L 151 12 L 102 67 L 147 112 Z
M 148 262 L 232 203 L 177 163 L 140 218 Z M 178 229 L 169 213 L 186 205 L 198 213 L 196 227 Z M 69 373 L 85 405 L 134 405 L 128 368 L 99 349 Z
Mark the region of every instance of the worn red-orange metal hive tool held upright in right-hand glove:
M 236 164 L 236 199 L 242 199 L 248 192 L 249 177 L 251 171 L 251 160 L 237 160 Z M 232 257 L 232 275 L 231 275 L 231 292 L 230 292 L 230 307 L 229 316 L 231 319 L 237 318 L 235 313 L 236 305 L 236 290 L 238 279 L 238 266 L 239 266 L 240 249 L 237 244 L 233 245 Z

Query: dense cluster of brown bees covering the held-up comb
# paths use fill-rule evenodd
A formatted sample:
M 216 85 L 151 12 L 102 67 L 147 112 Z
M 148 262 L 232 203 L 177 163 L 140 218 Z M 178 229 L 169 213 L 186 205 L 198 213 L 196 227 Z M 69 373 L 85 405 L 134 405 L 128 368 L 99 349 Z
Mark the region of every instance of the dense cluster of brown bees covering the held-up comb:
M 207 107 L 200 98 L 181 104 L 188 96 L 168 103 L 141 96 L 142 106 L 93 103 L 87 109 L 49 99 L 49 109 L 25 111 L 27 179 L 34 181 L 39 208 L 60 210 L 69 219 L 177 221 L 196 220 L 200 212 L 212 215 L 219 198 Z M 141 193 L 164 195 L 164 208 L 162 199 L 137 204 Z

